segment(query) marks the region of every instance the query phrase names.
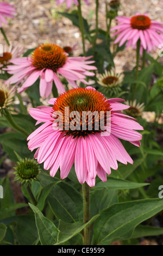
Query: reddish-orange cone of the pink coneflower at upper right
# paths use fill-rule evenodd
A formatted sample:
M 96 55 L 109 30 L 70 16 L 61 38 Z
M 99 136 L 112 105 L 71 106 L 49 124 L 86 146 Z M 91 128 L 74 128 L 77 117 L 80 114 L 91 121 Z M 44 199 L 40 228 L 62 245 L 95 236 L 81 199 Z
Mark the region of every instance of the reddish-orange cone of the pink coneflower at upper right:
M 145 30 L 151 26 L 151 19 L 145 15 L 131 17 L 131 27 L 139 30 Z

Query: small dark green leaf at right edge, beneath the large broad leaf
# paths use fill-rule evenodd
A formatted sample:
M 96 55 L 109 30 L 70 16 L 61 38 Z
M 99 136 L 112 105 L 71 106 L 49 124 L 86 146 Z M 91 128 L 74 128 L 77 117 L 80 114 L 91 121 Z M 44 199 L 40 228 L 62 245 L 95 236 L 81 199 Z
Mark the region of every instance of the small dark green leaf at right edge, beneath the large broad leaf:
M 131 235 L 131 239 L 139 238 L 143 236 L 158 236 L 163 234 L 163 228 L 151 227 L 148 225 L 138 225 L 133 234 Z

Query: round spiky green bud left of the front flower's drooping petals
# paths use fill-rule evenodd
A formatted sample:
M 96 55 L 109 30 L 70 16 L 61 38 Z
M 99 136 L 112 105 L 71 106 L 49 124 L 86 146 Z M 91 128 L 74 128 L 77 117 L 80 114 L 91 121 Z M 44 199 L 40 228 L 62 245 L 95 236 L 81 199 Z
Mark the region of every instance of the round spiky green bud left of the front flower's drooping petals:
M 21 159 L 14 169 L 16 170 L 15 180 L 22 184 L 36 180 L 40 173 L 39 164 L 34 159 Z

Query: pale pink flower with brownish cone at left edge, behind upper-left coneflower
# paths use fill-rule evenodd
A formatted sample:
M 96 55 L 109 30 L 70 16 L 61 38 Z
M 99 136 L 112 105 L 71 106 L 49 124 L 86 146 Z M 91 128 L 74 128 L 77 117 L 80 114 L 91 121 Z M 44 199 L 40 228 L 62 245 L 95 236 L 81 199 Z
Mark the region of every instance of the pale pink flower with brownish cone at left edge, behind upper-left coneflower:
M 18 47 L 18 45 L 16 45 L 15 47 L 12 47 L 12 45 L 8 47 L 5 46 L 3 49 L 3 56 L 0 56 L 0 68 L 8 65 L 11 59 L 20 57 L 22 53 L 23 47 Z

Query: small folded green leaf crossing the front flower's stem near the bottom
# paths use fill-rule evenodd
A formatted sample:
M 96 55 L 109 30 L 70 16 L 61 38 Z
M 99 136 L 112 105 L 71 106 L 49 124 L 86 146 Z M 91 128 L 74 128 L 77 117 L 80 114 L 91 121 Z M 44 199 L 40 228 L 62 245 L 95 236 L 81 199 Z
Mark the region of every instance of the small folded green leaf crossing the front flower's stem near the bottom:
M 58 241 L 55 245 L 60 245 L 60 243 L 64 243 L 67 240 L 71 239 L 71 237 L 77 235 L 82 231 L 85 227 L 90 225 L 93 221 L 95 221 L 99 215 L 96 215 L 91 218 L 91 220 L 85 224 L 83 222 L 75 222 L 75 223 L 66 223 L 63 221 L 59 221 L 59 234 L 58 234 Z

